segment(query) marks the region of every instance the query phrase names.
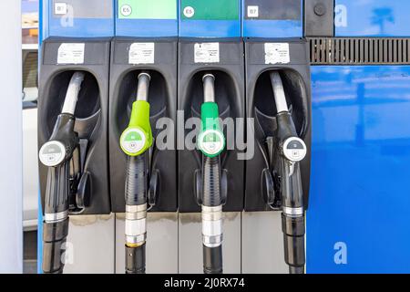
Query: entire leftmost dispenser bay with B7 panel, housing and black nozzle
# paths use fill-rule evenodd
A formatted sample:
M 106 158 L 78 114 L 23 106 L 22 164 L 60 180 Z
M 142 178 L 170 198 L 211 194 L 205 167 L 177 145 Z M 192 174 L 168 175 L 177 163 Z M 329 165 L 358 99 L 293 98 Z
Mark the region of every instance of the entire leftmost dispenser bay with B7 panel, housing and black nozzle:
M 39 230 L 43 271 L 62 273 L 68 215 L 111 210 L 107 125 L 112 3 L 50 0 L 43 11 L 38 145 L 44 227 Z

